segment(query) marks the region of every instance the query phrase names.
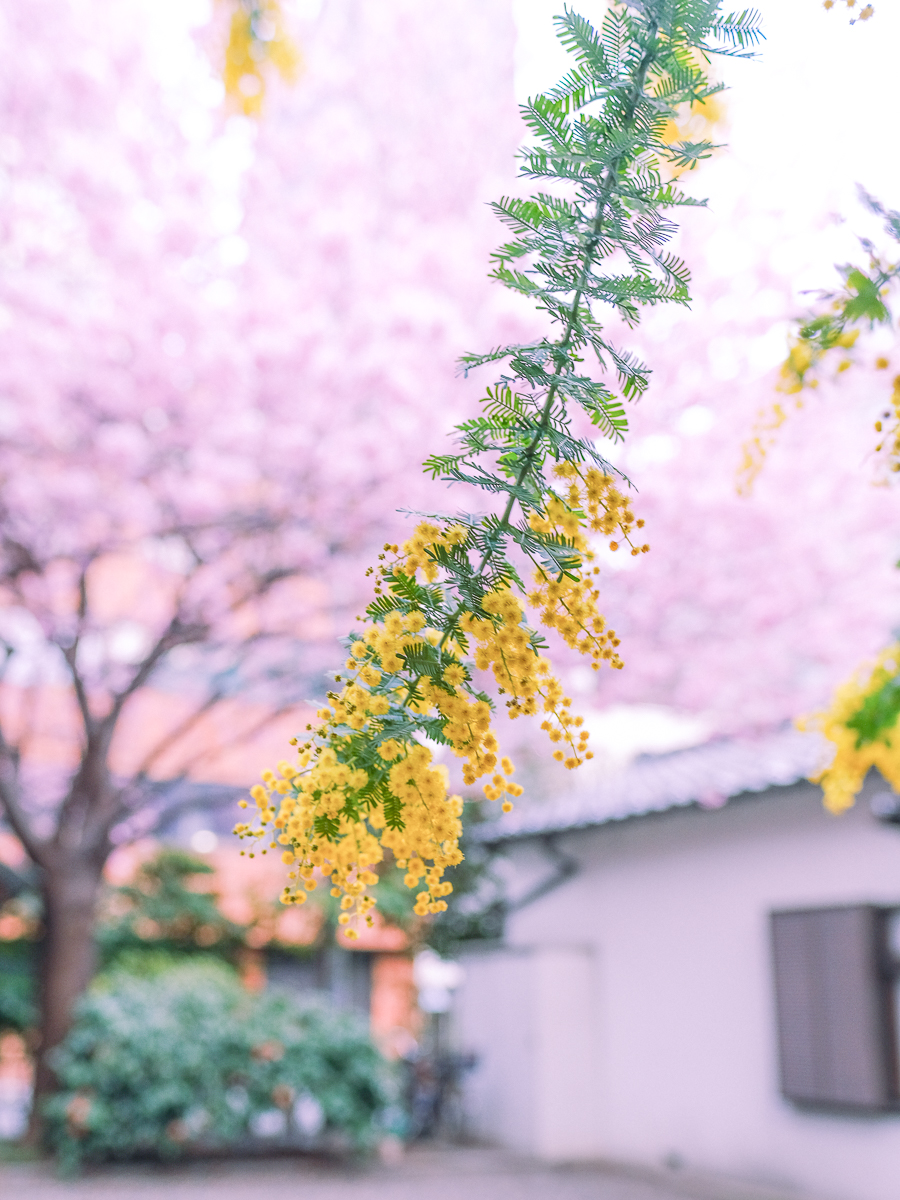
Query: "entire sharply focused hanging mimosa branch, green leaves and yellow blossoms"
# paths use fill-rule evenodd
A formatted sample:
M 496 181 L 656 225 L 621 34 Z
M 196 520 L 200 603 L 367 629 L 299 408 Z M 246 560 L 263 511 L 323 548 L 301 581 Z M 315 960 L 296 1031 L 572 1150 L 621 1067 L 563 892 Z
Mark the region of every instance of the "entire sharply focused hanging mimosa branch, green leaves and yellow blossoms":
M 671 176 L 713 148 L 667 138 L 679 109 L 721 90 L 706 74 L 708 56 L 746 55 L 760 32 L 755 13 L 721 16 L 718 0 L 620 0 L 599 30 L 568 8 L 556 24 L 574 65 L 522 108 L 533 136 L 522 174 L 554 191 L 493 205 L 512 240 L 496 252 L 492 274 L 562 332 L 464 356 L 466 371 L 494 362 L 502 372 L 481 414 L 457 426 L 458 450 L 425 463 L 434 479 L 503 497 L 500 512 L 428 516 L 402 548 L 385 545 L 374 599 L 335 676 L 340 690 L 295 739 L 299 760 L 253 790 L 258 821 L 236 827 L 283 847 L 284 902 L 330 877 L 348 936 L 354 916 L 372 919 L 372 868 L 385 851 L 420 889 L 416 913 L 446 907 L 443 875 L 462 857 L 462 800 L 448 796 L 430 743 L 463 761 L 467 786 L 490 776 L 485 796 L 506 797 L 504 809 L 522 792 L 500 757 L 496 700 L 478 688 L 479 672 L 492 673 L 509 716 L 544 715 L 554 758 L 571 768 L 590 757 L 588 734 L 542 654 L 539 626 L 595 670 L 623 666 L 619 638 L 596 607 L 593 546 L 612 539 L 613 551 L 624 544 L 632 554 L 649 546 L 632 541 L 643 521 L 626 481 L 592 438 L 577 436 L 572 416 L 581 410 L 613 440 L 626 433 L 624 404 L 644 391 L 649 371 L 607 338 L 598 310 L 634 326 L 647 305 L 689 302 L 689 272 L 665 250 L 676 229 L 666 214 L 703 202 Z M 595 373 L 580 370 L 588 350 Z

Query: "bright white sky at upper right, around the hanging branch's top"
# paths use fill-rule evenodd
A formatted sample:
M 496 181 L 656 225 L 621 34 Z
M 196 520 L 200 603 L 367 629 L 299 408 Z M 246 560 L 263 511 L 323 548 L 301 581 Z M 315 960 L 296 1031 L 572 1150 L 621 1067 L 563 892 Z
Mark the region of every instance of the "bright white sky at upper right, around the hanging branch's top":
M 599 23 L 606 5 L 576 0 L 574 7 Z M 821 0 L 762 0 L 757 7 L 766 34 L 758 58 L 716 61 L 730 88 L 730 127 L 722 136 L 728 150 L 701 168 L 695 186 L 726 223 L 738 199 L 782 214 L 780 253 L 798 292 L 827 287 L 834 282 L 830 264 L 858 256 L 856 234 L 872 233 L 856 184 L 900 208 L 900 7 L 882 0 L 870 20 L 854 25 L 840 0 L 830 12 Z M 552 34 L 560 10 L 560 0 L 514 0 L 520 100 L 565 70 L 566 56 Z M 737 238 L 734 253 L 740 253 Z

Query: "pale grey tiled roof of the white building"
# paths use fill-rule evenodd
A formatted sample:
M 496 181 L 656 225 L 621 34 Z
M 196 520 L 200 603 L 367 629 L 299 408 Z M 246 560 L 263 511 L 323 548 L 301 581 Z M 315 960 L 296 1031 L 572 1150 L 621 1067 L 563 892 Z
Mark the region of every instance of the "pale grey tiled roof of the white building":
M 818 734 L 782 728 L 752 737 L 716 738 L 671 754 L 641 755 L 626 767 L 599 767 L 589 782 L 584 780 L 588 786 L 556 799 L 518 802 L 512 812 L 478 826 L 473 835 L 479 841 L 506 841 L 689 804 L 720 808 L 742 792 L 763 792 L 805 779 L 827 761 L 827 744 Z M 582 767 L 581 772 L 587 769 Z

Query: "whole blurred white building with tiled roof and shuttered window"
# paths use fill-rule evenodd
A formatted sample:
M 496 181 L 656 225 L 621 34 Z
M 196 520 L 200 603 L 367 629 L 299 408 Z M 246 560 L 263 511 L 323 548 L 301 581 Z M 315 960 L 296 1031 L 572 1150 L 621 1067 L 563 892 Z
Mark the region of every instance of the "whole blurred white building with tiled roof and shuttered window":
M 509 910 L 455 1001 L 474 1130 L 778 1194 L 892 1195 L 896 798 L 872 781 L 830 817 L 810 742 L 644 755 L 479 830 L 505 851 Z

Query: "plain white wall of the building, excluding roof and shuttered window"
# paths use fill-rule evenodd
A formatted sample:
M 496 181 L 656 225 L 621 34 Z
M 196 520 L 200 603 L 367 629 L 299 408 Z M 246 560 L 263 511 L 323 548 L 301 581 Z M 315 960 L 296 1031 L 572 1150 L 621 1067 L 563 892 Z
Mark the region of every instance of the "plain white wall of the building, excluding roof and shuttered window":
M 566 834 L 581 870 L 473 953 L 457 1036 L 470 1116 L 548 1158 L 688 1166 L 840 1200 L 900 1198 L 900 1115 L 779 1096 L 768 914 L 900 904 L 900 829 L 809 785 Z M 523 878 L 536 842 L 514 851 Z

